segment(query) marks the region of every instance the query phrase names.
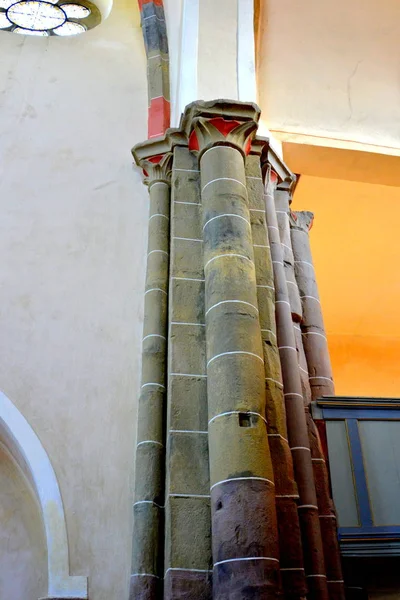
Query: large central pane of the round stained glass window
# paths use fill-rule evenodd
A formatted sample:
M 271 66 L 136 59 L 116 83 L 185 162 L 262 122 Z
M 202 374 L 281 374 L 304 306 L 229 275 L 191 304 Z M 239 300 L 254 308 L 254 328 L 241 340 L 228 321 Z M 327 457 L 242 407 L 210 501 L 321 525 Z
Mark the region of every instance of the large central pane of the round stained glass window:
M 8 9 L 7 16 L 15 25 L 37 31 L 52 29 L 65 22 L 65 14 L 58 6 L 38 0 L 26 0 L 13 4 Z

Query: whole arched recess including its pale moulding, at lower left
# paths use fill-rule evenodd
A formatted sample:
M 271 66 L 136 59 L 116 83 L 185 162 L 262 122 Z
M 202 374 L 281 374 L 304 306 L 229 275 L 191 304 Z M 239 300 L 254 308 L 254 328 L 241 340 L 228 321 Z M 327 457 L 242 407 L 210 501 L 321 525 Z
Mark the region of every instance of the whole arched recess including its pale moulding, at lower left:
M 50 459 L 2 392 L 0 515 L 0 598 L 25 600 L 33 592 L 52 599 L 87 598 L 87 578 L 69 575 L 64 508 Z

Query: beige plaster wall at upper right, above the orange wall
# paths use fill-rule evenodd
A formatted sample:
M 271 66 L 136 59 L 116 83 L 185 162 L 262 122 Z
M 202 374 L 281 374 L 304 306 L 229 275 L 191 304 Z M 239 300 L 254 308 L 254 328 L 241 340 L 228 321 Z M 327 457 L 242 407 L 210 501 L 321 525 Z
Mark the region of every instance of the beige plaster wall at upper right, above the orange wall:
M 262 6 L 258 82 L 268 127 L 281 139 L 306 134 L 398 153 L 399 2 L 266 0 Z

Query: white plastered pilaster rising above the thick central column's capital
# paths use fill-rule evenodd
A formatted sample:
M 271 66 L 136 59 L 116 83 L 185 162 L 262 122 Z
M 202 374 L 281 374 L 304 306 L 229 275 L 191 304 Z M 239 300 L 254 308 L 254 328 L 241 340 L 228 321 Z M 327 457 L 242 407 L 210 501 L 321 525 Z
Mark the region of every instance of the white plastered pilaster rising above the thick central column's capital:
M 164 0 L 170 49 L 171 125 L 187 104 L 257 101 L 253 0 Z M 269 135 L 264 126 L 262 135 Z

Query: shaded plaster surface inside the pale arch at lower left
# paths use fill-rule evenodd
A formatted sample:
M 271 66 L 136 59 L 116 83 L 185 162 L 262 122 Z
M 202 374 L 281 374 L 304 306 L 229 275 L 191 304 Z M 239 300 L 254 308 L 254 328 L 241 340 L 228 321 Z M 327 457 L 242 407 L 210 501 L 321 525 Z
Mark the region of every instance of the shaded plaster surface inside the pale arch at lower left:
M 47 557 L 36 497 L 0 444 L 0 598 L 37 600 L 47 592 Z

